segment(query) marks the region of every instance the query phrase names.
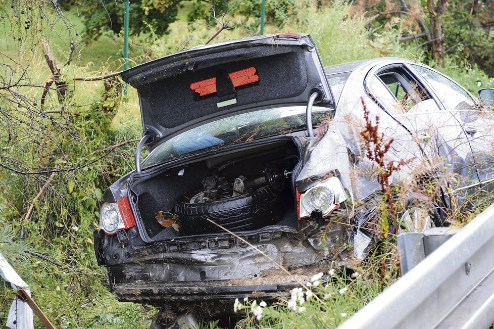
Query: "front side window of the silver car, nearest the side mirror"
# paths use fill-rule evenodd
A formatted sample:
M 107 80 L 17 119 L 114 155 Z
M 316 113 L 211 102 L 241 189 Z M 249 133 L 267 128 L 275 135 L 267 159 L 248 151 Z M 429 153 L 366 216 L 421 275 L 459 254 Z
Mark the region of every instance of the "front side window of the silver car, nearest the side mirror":
M 412 64 L 412 67 L 434 89 L 439 101 L 448 110 L 454 110 L 458 107 L 472 106 L 475 104 L 465 89 L 447 77 L 420 65 Z

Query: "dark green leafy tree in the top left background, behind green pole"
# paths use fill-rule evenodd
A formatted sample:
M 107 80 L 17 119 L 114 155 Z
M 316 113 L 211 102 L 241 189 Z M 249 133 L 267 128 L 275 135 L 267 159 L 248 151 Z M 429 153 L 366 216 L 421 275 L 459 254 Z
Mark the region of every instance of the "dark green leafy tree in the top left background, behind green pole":
M 153 26 L 159 35 L 168 32 L 168 26 L 174 22 L 180 0 L 138 0 L 131 1 L 129 7 L 129 31 L 140 34 Z M 78 10 L 84 17 L 87 35 L 97 39 L 105 31 L 120 33 L 123 30 L 124 2 L 102 0 L 98 2 L 81 1 Z

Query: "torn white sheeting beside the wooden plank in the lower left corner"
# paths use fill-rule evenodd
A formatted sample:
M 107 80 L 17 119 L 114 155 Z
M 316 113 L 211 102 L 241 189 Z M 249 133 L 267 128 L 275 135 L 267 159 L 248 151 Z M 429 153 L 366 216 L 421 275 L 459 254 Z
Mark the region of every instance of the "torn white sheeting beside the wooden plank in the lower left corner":
M 29 286 L 24 282 L 23 279 L 16 273 L 16 271 L 7 262 L 7 259 L 0 253 L 0 275 L 10 282 L 13 289 L 23 288 L 29 296 L 31 296 L 31 291 Z M 7 317 L 6 326 L 9 328 L 17 329 L 33 329 L 33 311 L 27 305 L 27 303 L 21 301 L 20 299 L 15 299 L 9 310 L 9 316 Z

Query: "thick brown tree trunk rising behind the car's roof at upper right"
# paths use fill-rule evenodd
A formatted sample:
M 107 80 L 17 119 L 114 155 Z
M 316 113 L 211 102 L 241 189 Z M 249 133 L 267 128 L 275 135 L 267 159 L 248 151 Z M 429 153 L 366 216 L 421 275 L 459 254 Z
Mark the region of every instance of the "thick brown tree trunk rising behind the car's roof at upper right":
M 434 0 L 427 0 L 427 9 L 430 17 L 429 31 L 432 46 L 432 58 L 439 66 L 444 66 L 441 15 L 447 7 L 447 0 L 438 0 L 437 5 L 434 5 Z

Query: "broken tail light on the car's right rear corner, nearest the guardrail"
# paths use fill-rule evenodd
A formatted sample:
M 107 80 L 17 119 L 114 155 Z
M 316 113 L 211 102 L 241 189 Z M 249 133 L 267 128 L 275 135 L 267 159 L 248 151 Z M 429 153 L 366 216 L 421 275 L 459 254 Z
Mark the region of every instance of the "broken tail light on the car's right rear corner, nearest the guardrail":
M 299 218 L 310 217 L 314 210 L 321 211 L 322 216 L 326 217 L 347 198 L 347 193 L 336 177 L 325 179 L 304 193 L 297 190 Z

